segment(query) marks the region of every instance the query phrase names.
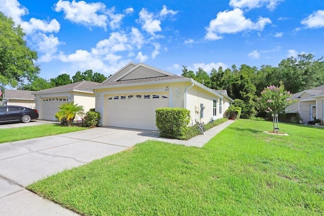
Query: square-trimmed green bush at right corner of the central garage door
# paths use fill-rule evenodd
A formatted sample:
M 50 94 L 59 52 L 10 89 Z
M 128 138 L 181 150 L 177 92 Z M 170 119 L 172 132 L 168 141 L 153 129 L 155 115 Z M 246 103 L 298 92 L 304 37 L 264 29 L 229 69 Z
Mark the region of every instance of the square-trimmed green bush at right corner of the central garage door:
M 157 108 L 155 122 L 161 137 L 181 140 L 188 131 L 190 111 L 184 108 Z

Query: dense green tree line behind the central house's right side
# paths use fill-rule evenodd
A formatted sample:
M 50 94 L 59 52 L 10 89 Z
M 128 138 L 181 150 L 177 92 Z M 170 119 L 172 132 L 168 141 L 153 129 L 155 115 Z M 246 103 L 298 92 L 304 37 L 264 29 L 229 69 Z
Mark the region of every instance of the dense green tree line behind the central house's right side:
M 262 65 L 258 69 L 246 64 L 239 68 L 232 65 L 225 70 L 222 67 L 218 70 L 213 68 L 210 74 L 202 68 L 193 72 L 183 66 L 182 76 L 204 83 L 211 89 L 227 90 L 235 106 L 241 107 L 247 117 L 253 117 L 261 114 L 258 98 L 269 85 L 278 86 L 282 81 L 285 89 L 294 94 L 324 84 L 323 57 L 314 58 L 312 54 L 301 54 L 282 60 L 277 67 Z

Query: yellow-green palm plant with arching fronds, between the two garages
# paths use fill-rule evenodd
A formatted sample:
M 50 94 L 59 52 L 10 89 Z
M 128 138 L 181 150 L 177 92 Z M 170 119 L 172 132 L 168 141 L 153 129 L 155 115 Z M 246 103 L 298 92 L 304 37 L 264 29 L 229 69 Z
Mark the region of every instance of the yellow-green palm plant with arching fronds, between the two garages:
M 84 109 L 83 106 L 74 104 L 74 102 L 62 104 L 58 107 L 60 110 L 55 114 L 55 117 L 62 121 L 62 119 L 66 119 L 66 122 L 69 125 L 73 124 L 73 120 L 75 116 L 83 116 L 84 115 Z

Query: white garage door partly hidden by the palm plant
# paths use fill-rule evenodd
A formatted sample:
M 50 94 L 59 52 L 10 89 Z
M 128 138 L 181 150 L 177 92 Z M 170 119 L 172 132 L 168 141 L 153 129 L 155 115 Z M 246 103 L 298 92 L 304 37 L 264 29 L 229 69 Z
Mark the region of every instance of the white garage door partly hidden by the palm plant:
M 55 113 L 59 111 L 58 107 L 62 104 L 68 103 L 67 98 L 42 98 L 42 106 L 38 110 L 40 119 L 43 120 L 57 120 Z

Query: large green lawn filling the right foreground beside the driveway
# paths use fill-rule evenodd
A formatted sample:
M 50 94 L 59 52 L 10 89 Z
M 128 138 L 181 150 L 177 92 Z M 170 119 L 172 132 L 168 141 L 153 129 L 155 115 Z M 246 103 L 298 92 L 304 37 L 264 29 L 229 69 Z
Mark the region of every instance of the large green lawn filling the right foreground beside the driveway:
M 84 215 L 323 215 L 324 130 L 239 119 L 204 148 L 147 141 L 28 186 Z

